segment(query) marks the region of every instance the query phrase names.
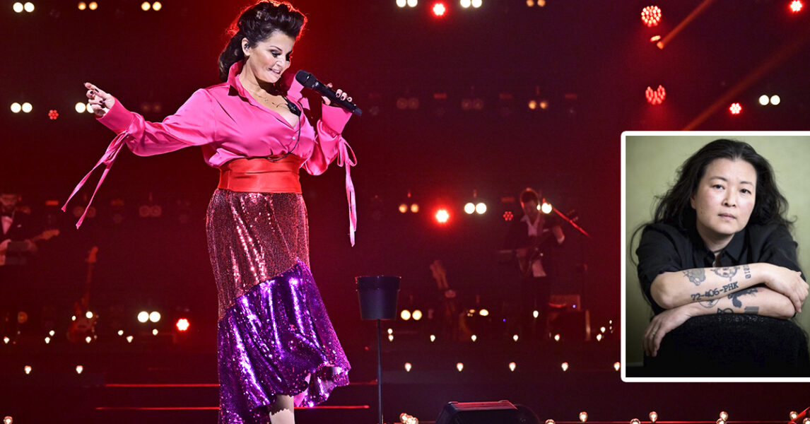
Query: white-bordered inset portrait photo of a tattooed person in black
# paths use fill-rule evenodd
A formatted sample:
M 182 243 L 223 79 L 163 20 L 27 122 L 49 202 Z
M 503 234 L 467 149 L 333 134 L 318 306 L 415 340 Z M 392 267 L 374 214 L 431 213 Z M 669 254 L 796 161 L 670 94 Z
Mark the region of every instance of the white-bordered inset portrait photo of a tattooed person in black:
M 621 149 L 622 379 L 810 381 L 810 132 Z

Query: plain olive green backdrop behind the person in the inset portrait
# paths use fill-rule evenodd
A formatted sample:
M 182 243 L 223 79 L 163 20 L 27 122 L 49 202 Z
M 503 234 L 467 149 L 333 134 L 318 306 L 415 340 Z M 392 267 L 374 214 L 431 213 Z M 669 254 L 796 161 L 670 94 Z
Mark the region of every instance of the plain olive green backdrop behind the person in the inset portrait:
M 642 362 L 642 334 L 650 322 L 652 310 L 638 285 L 635 249 L 630 245 L 633 231 L 652 218 L 655 196 L 669 189 L 676 179 L 676 170 L 701 146 L 718 138 L 748 142 L 757 153 L 768 159 L 776 172 L 782 194 L 790 204 L 788 217 L 795 218 L 793 236 L 799 244 L 799 265 L 807 273 L 810 266 L 810 134 L 754 135 L 728 133 L 721 135 L 628 135 L 626 137 L 626 215 L 625 215 L 625 316 L 627 363 Z M 807 277 L 805 277 L 807 279 Z M 796 316 L 805 331 L 810 329 L 810 302 L 804 303 L 803 313 Z

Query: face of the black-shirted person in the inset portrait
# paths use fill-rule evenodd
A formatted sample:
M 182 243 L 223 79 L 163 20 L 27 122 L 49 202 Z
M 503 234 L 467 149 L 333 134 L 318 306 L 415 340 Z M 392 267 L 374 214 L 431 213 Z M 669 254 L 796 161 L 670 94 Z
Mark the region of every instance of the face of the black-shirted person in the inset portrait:
M 731 237 L 748 225 L 757 198 L 757 170 L 742 159 L 714 159 L 706 167 L 692 207 L 697 232 L 710 249 L 724 248 Z

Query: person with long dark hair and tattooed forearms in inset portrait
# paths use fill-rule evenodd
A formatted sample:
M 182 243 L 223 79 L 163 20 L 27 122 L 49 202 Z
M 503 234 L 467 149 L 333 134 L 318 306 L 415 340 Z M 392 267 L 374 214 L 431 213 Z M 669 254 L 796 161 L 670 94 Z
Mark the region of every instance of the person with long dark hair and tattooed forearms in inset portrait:
M 640 229 L 638 278 L 654 312 L 642 339 L 648 364 L 673 375 L 808 371 L 804 333 L 787 320 L 801 312 L 808 284 L 786 211 L 770 163 L 748 143 L 715 140 L 684 162 Z M 798 334 L 804 344 L 782 352 L 787 359 L 765 346 L 729 354 L 757 333 L 764 343 Z

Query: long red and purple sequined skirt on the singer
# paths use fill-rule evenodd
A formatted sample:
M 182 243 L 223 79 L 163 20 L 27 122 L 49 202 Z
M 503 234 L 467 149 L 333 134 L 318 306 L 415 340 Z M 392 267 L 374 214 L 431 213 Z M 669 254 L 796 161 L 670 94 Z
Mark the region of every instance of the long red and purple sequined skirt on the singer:
M 220 424 L 267 422 L 276 395 L 316 405 L 348 384 L 309 271 L 301 194 L 217 189 L 207 235 L 220 305 Z

